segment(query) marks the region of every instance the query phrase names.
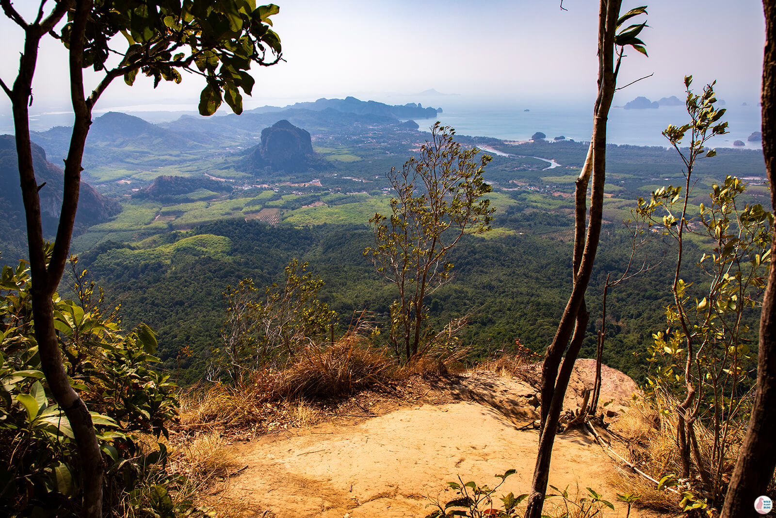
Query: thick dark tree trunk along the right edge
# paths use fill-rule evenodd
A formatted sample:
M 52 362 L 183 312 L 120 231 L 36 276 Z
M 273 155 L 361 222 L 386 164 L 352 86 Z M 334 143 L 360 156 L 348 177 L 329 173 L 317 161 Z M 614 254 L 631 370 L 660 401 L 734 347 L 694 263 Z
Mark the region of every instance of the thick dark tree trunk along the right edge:
M 763 155 L 771 183 L 771 206 L 776 207 L 776 0 L 764 0 L 765 54 L 763 59 Z M 776 256 L 776 232 L 771 238 L 771 258 Z M 771 259 L 773 260 L 773 259 Z M 757 393 L 747 436 L 730 479 L 723 518 L 753 516 L 755 499 L 765 495 L 776 467 L 776 265 L 771 262 L 760 315 L 757 354 Z

